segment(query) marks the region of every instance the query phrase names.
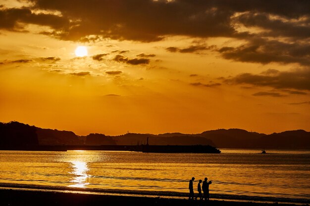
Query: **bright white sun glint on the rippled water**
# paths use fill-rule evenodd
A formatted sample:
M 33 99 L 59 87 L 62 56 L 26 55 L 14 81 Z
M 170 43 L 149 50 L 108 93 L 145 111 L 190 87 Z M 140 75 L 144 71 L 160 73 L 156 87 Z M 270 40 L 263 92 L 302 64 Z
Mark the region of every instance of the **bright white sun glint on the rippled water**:
M 73 161 L 70 163 L 73 171 L 70 172 L 74 175 L 73 179 L 70 181 L 73 184 L 69 187 L 86 187 L 89 182 L 87 182 L 90 175 L 87 174 L 89 171 L 88 165 L 86 162 L 82 161 Z

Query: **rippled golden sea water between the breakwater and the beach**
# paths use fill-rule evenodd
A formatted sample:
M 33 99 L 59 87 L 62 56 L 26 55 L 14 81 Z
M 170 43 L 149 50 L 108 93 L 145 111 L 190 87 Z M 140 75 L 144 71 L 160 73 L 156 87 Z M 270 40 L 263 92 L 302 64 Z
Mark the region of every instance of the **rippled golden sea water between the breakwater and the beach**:
M 267 151 L 268 154 L 259 154 L 259 150 L 221 151 L 221 154 L 0 151 L 0 187 L 31 185 L 186 195 L 191 177 L 196 178 L 194 187 L 199 179 L 207 177 L 212 181 L 211 198 L 310 201 L 310 151 L 273 150 Z

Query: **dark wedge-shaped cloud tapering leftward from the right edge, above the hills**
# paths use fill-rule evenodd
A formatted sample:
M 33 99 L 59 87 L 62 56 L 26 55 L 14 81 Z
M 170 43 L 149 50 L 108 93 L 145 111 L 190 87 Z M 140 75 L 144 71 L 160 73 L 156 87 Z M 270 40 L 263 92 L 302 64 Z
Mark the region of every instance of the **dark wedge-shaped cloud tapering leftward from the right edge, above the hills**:
M 276 89 L 297 89 L 310 90 L 310 68 L 295 69 L 284 72 L 273 72 L 267 70 L 266 73 L 258 75 L 243 73 L 235 77 L 228 78 L 224 82 L 235 84 L 251 84 L 255 86 L 270 86 Z

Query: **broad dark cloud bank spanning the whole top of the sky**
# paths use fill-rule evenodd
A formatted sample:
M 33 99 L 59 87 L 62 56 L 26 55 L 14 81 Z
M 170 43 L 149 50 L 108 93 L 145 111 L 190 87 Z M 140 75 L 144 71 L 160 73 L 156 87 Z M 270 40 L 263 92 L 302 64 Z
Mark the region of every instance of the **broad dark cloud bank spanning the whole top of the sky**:
M 46 25 L 55 30 L 54 37 L 73 41 L 96 41 L 99 36 L 134 41 L 159 41 L 173 35 L 251 36 L 238 33 L 237 23 L 272 30 L 264 34 L 269 36 L 309 37 L 309 0 L 75 0 L 74 6 L 71 0 L 29 1 L 32 9 L 56 10 L 62 16 L 1 7 L 1 28 L 18 29 L 18 22 Z

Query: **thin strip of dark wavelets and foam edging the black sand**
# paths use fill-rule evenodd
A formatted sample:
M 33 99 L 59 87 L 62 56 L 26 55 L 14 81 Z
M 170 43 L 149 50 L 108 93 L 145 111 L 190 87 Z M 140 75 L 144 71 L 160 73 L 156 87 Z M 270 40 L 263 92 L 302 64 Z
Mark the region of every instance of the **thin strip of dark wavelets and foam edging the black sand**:
M 111 197 L 135 197 L 135 198 L 161 198 L 184 200 L 188 198 L 187 193 L 167 192 L 167 191 L 139 191 L 139 190 L 121 190 L 121 189 L 98 189 L 98 188 L 78 188 L 67 186 L 44 186 L 44 185 L 29 185 L 29 184 L 14 184 L 0 183 L 0 191 L 24 191 L 24 192 L 52 192 L 64 194 L 81 194 L 81 195 L 99 195 Z M 197 194 L 195 194 L 197 195 Z M 274 204 L 280 203 L 284 205 L 306 205 L 310 204 L 309 199 L 292 199 L 292 198 L 275 198 L 275 197 L 258 197 L 244 195 L 225 195 L 225 194 L 210 194 L 211 201 L 224 201 L 234 203 L 252 202 L 256 204 Z

